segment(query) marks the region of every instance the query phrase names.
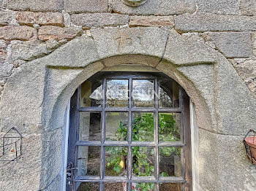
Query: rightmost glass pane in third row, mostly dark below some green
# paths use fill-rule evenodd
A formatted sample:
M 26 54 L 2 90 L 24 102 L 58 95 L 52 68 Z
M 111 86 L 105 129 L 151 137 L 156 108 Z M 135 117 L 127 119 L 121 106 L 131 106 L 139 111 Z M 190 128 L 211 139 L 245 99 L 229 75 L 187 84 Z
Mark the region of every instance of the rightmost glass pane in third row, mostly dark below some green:
M 181 176 L 181 148 L 159 147 L 159 176 Z

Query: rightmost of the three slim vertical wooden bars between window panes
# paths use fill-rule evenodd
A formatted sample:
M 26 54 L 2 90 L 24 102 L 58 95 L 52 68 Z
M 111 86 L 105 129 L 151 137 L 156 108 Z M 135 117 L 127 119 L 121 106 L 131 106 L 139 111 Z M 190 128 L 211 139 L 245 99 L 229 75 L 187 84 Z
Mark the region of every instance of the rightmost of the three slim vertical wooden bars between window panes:
M 159 97 L 158 97 L 158 91 L 159 91 L 159 87 L 158 87 L 158 80 L 157 78 L 154 79 L 154 107 L 156 109 L 156 112 L 154 112 L 154 141 L 156 146 L 154 147 L 154 160 L 155 160 L 155 166 L 154 166 L 154 175 L 157 179 L 157 184 L 155 184 L 155 190 L 159 190 L 159 147 L 158 147 L 158 143 L 159 143 L 159 137 L 158 137 L 158 108 L 159 108 Z

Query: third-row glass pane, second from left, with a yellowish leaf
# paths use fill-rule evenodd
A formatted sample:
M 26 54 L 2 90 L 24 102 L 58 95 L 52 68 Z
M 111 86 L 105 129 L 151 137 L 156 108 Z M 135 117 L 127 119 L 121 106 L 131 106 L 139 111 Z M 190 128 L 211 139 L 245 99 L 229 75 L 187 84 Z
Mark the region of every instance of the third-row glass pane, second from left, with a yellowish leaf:
M 127 147 L 105 147 L 105 176 L 127 175 Z

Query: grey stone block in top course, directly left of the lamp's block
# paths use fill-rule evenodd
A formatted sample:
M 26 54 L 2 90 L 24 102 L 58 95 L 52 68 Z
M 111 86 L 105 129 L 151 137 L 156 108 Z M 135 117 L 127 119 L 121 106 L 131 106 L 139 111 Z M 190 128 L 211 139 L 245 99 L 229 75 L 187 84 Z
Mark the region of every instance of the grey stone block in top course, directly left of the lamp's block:
M 108 0 L 64 0 L 67 12 L 108 12 Z

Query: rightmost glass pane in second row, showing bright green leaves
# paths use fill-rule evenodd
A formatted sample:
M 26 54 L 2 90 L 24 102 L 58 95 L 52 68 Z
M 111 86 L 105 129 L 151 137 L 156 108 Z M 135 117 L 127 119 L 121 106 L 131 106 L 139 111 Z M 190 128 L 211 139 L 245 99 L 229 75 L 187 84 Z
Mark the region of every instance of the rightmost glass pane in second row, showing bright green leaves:
M 181 113 L 159 113 L 159 141 L 181 141 Z

